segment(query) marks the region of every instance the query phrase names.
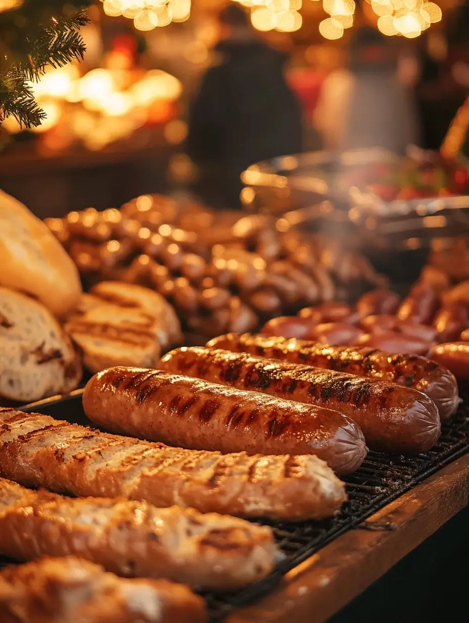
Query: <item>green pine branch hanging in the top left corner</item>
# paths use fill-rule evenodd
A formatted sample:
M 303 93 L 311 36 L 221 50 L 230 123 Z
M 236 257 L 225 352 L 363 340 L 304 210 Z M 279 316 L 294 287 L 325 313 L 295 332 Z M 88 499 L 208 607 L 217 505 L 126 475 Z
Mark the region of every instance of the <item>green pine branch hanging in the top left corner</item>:
M 27 80 L 45 67 L 83 59 L 79 34 L 88 24 L 90 0 L 24 0 L 19 9 L 0 12 L 0 123 L 13 115 L 21 125 L 40 125 L 45 115 L 34 102 Z

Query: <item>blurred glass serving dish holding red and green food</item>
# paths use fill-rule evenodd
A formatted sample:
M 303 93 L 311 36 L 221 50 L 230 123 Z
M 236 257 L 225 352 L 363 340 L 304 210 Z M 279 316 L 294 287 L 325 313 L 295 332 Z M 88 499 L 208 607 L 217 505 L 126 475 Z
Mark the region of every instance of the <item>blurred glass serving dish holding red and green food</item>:
M 417 148 L 406 158 L 381 149 L 282 156 L 250 166 L 242 181 L 246 209 L 364 252 L 469 234 L 469 167 Z

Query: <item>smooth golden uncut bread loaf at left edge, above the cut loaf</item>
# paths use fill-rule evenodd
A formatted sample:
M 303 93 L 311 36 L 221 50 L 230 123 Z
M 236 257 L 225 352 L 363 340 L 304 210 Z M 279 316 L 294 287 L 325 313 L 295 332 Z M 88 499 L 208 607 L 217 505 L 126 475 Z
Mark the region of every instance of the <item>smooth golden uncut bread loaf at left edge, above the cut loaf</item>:
M 75 307 L 78 270 L 45 224 L 17 199 L 0 191 L 0 286 L 38 298 L 56 316 Z

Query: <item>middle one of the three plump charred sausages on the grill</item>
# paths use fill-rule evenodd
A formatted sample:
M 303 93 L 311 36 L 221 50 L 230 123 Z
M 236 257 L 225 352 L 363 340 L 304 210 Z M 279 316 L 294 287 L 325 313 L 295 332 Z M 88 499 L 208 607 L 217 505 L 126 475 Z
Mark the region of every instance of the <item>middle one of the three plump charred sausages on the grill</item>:
M 415 389 L 396 383 L 200 347 L 171 351 L 159 365 L 278 399 L 336 409 L 359 424 L 367 444 L 376 450 L 425 452 L 440 435 L 435 404 Z

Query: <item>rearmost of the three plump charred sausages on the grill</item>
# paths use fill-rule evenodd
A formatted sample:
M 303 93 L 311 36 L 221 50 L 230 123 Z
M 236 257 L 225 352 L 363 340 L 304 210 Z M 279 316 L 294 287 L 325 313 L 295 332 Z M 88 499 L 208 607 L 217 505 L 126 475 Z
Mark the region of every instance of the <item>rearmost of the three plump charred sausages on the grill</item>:
M 249 333 L 221 335 L 209 341 L 207 346 L 339 370 L 414 388 L 435 402 L 442 421 L 455 414 L 459 404 L 458 386 L 453 374 L 424 357 L 385 353 L 373 348 L 333 348 L 304 340 L 268 338 Z

